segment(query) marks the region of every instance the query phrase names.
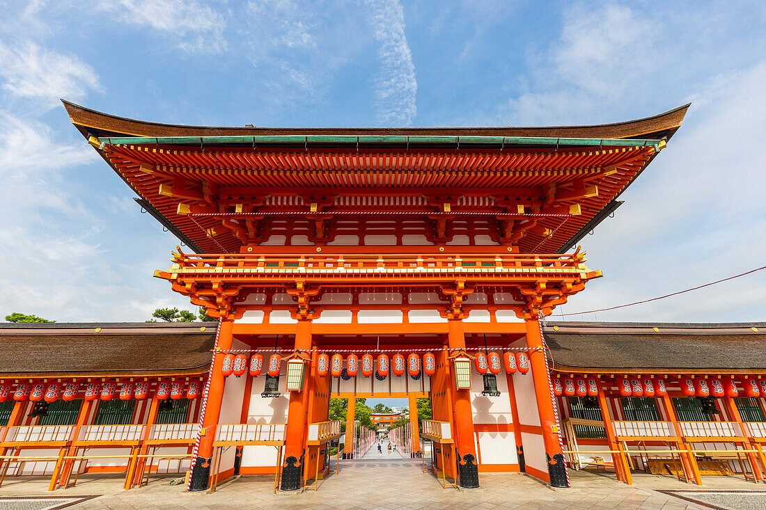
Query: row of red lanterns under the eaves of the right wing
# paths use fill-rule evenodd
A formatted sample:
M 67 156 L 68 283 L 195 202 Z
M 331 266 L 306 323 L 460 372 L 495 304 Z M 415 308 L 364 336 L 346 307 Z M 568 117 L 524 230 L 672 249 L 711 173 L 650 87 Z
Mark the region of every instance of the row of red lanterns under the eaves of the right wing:
M 666 381 L 658 377 L 617 378 L 620 397 L 665 397 Z M 738 397 L 737 381 L 733 378 L 689 378 L 678 379 L 681 393 L 686 397 Z M 596 379 L 593 377 L 562 377 L 552 380 L 553 393 L 559 397 L 595 397 L 598 394 Z M 766 379 L 745 378 L 741 381 L 748 397 L 766 397 Z

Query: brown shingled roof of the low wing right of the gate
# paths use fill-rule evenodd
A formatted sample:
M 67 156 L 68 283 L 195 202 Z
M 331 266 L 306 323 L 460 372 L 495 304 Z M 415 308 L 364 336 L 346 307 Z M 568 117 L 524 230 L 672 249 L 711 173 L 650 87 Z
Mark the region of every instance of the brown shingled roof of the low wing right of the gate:
M 544 334 L 561 372 L 766 373 L 766 322 L 548 322 Z

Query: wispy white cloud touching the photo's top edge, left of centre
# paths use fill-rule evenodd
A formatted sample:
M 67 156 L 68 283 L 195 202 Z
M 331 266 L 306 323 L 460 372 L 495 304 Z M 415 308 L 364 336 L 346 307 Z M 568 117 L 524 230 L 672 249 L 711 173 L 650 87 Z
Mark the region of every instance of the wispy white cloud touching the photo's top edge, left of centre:
M 191 0 L 119 0 L 100 7 L 125 23 L 171 35 L 185 51 L 217 54 L 227 46 L 226 18 L 210 5 Z

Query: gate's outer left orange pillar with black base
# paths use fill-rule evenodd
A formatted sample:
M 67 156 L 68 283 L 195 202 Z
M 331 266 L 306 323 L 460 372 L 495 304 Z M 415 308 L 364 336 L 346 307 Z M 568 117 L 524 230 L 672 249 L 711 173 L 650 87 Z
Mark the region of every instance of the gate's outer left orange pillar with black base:
M 216 349 L 230 349 L 233 337 L 231 331 L 234 321 L 221 319 L 218 325 L 218 338 L 215 342 Z M 210 464 L 213 456 L 213 442 L 215 440 L 215 427 L 218 425 L 218 417 L 221 415 L 221 400 L 224 397 L 224 383 L 226 378 L 221 373 L 221 365 L 224 363 L 224 352 L 214 352 L 208 386 L 203 395 L 204 407 L 200 416 L 200 436 L 197 447 L 197 456 L 191 469 L 190 491 L 204 491 L 210 485 Z

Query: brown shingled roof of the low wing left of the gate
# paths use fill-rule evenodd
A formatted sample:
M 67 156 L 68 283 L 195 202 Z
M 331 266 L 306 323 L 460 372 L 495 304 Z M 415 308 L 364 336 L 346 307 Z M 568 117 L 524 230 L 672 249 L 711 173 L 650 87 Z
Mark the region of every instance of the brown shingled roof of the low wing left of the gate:
M 0 324 L 0 347 L 6 353 L 0 378 L 205 374 L 217 325 Z

